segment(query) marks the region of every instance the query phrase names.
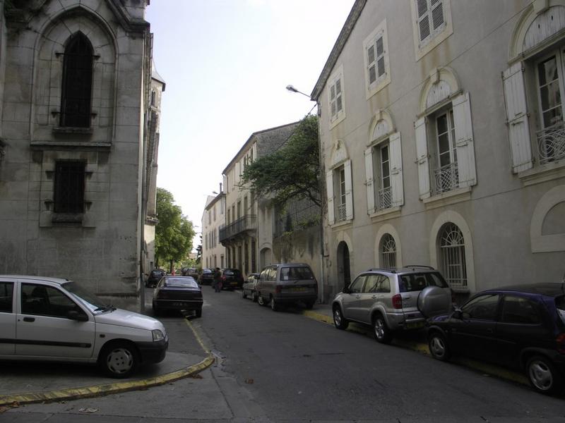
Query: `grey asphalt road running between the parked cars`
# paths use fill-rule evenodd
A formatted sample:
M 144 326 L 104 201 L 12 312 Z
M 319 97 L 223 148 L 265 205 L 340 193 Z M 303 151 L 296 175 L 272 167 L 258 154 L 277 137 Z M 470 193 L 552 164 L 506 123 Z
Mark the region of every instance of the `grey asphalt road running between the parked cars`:
M 565 422 L 564 397 L 380 345 L 295 309 L 273 312 L 239 291 L 203 291 L 203 317 L 191 324 L 218 363 L 201 378 L 28 405 L 0 422 Z

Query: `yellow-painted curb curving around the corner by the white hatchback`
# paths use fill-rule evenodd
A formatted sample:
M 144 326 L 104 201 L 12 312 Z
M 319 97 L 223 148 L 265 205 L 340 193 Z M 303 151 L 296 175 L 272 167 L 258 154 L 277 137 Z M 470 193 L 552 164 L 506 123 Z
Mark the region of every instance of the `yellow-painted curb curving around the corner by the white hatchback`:
M 186 321 L 186 320 L 185 320 Z M 6 395 L 0 396 L 0 406 L 11 406 L 11 405 L 21 405 L 21 404 L 31 404 L 31 403 L 50 403 L 60 400 L 76 400 L 78 398 L 91 398 L 95 396 L 104 396 L 111 393 L 121 393 L 126 391 L 136 391 L 141 389 L 150 388 L 152 386 L 159 386 L 168 384 L 185 377 L 192 376 L 202 372 L 204 369 L 210 367 L 214 362 L 215 358 L 208 351 L 201 341 L 198 333 L 194 331 L 194 328 L 186 321 L 186 324 L 192 329 L 198 343 L 201 345 L 203 350 L 206 352 L 207 357 L 185 369 L 177 370 L 176 372 L 171 372 L 167 374 L 162 374 L 161 376 L 155 376 L 148 379 L 140 379 L 136 381 L 126 381 L 126 382 L 116 382 L 114 384 L 105 384 L 97 386 L 86 386 L 84 388 L 69 388 L 61 389 L 59 391 L 49 391 L 49 392 L 31 392 L 31 393 L 21 393 L 16 395 Z

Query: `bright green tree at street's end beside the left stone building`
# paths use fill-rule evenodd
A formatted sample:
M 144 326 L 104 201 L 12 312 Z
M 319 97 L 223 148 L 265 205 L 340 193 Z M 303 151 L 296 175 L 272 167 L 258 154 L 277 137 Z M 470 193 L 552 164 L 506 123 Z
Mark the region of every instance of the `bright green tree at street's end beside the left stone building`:
M 182 216 L 179 206 L 174 204 L 173 195 L 157 188 L 157 219 L 155 228 L 155 261 L 169 262 L 169 271 L 173 271 L 174 262 L 184 259 L 192 250 L 194 227 L 192 222 Z

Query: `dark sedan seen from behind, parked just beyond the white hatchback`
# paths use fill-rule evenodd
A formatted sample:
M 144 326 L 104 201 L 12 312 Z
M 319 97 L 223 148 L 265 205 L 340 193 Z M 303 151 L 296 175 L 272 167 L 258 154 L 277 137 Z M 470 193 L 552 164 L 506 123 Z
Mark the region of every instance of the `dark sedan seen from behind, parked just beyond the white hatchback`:
M 153 292 L 153 314 L 163 310 L 187 310 L 202 317 L 202 290 L 190 276 L 163 276 Z

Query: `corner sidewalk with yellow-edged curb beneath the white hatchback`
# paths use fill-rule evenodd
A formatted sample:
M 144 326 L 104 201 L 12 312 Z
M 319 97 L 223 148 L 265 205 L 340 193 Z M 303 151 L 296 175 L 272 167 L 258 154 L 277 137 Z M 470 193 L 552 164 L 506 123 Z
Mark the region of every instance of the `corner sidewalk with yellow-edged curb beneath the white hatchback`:
M 169 343 L 165 360 L 141 367 L 130 379 L 111 379 L 102 376 L 96 366 L 45 362 L 5 362 L 0 376 L 0 407 L 16 404 L 40 403 L 134 391 L 167 384 L 191 376 L 210 367 L 214 357 L 203 348 L 188 320 L 183 328 L 192 333 L 186 336 L 186 345 Z M 163 321 L 167 333 L 178 332 L 179 327 Z M 169 341 L 171 342 L 171 341 Z M 191 353 L 179 353 L 175 350 Z

